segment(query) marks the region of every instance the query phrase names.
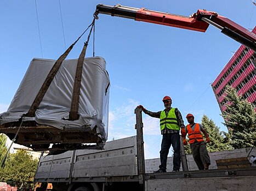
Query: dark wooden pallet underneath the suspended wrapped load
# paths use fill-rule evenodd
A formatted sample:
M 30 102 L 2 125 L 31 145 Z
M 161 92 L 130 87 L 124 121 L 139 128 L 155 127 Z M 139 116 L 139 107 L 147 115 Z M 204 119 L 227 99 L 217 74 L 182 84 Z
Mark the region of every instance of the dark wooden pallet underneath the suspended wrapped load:
M 18 131 L 19 123 L 3 124 L 0 126 L 0 133 L 4 133 L 12 140 Z M 51 150 L 48 149 L 50 144 L 54 144 L 54 149 L 52 150 L 58 150 L 58 147 L 59 149 L 69 148 L 69 150 L 73 150 L 79 147 L 79 144 L 101 144 L 103 140 L 96 134 L 96 128 L 93 130 L 90 127 L 59 129 L 51 126 L 42 126 L 34 121 L 26 121 L 22 123 L 14 142 L 36 151 Z

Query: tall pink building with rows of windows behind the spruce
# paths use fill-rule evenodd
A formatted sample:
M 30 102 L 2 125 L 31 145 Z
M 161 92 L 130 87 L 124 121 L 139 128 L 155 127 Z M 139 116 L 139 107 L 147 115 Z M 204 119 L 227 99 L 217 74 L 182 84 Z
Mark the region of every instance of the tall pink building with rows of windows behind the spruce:
M 256 27 L 253 33 L 256 34 Z M 241 45 L 234 56 L 225 65 L 212 83 L 213 92 L 219 103 L 221 112 L 224 106 L 225 87 L 230 85 L 236 88 L 238 95 L 254 105 L 256 111 L 256 53 L 248 47 Z

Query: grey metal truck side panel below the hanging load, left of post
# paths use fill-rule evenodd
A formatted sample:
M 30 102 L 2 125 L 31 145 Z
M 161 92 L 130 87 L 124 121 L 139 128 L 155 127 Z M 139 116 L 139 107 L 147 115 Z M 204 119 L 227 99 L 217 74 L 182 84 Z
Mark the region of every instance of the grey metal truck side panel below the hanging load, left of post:
M 92 177 L 135 176 L 136 136 L 106 142 L 104 150 L 76 150 L 41 157 L 37 182 L 81 181 Z

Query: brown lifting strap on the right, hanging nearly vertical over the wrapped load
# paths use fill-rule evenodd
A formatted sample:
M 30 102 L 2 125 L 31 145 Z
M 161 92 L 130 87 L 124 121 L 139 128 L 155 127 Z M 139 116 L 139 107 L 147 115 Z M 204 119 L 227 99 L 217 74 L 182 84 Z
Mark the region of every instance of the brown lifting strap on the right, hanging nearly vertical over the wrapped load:
M 69 120 L 71 121 L 78 120 L 79 118 L 78 107 L 79 107 L 81 79 L 82 79 L 82 72 L 83 72 L 83 62 L 84 62 L 84 57 L 86 56 L 86 49 L 90 39 L 90 34 L 92 33 L 92 29 L 94 28 L 94 22 L 95 22 L 95 19 L 93 20 L 93 25 L 92 25 L 92 28 L 90 28 L 88 39 L 86 43 L 84 43 L 82 52 L 80 53 L 77 61 L 76 76 L 75 76 L 75 82 L 73 87 L 72 102 L 71 102 L 70 115 L 69 115 Z

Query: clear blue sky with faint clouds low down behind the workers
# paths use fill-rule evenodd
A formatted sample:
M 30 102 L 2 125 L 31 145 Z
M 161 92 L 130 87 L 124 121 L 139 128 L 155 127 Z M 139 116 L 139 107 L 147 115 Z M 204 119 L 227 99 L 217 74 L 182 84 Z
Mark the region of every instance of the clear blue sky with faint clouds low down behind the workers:
M 249 29 L 256 21 L 251 0 L 0 1 L 0 113 L 8 109 L 32 58 L 58 59 L 92 22 L 97 4 L 184 16 L 206 9 Z M 67 59 L 78 58 L 87 35 Z M 93 56 L 92 45 L 91 37 L 86 57 Z M 239 46 L 213 26 L 201 33 L 100 14 L 95 23 L 95 56 L 105 58 L 111 80 L 109 140 L 135 135 L 136 106 L 161 111 L 164 96 L 172 98 L 185 124 L 187 113 L 194 114 L 196 122 L 207 115 L 227 131 L 210 84 Z M 143 123 L 145 158 L 158 158 L 159 120 L 143 114 Z

